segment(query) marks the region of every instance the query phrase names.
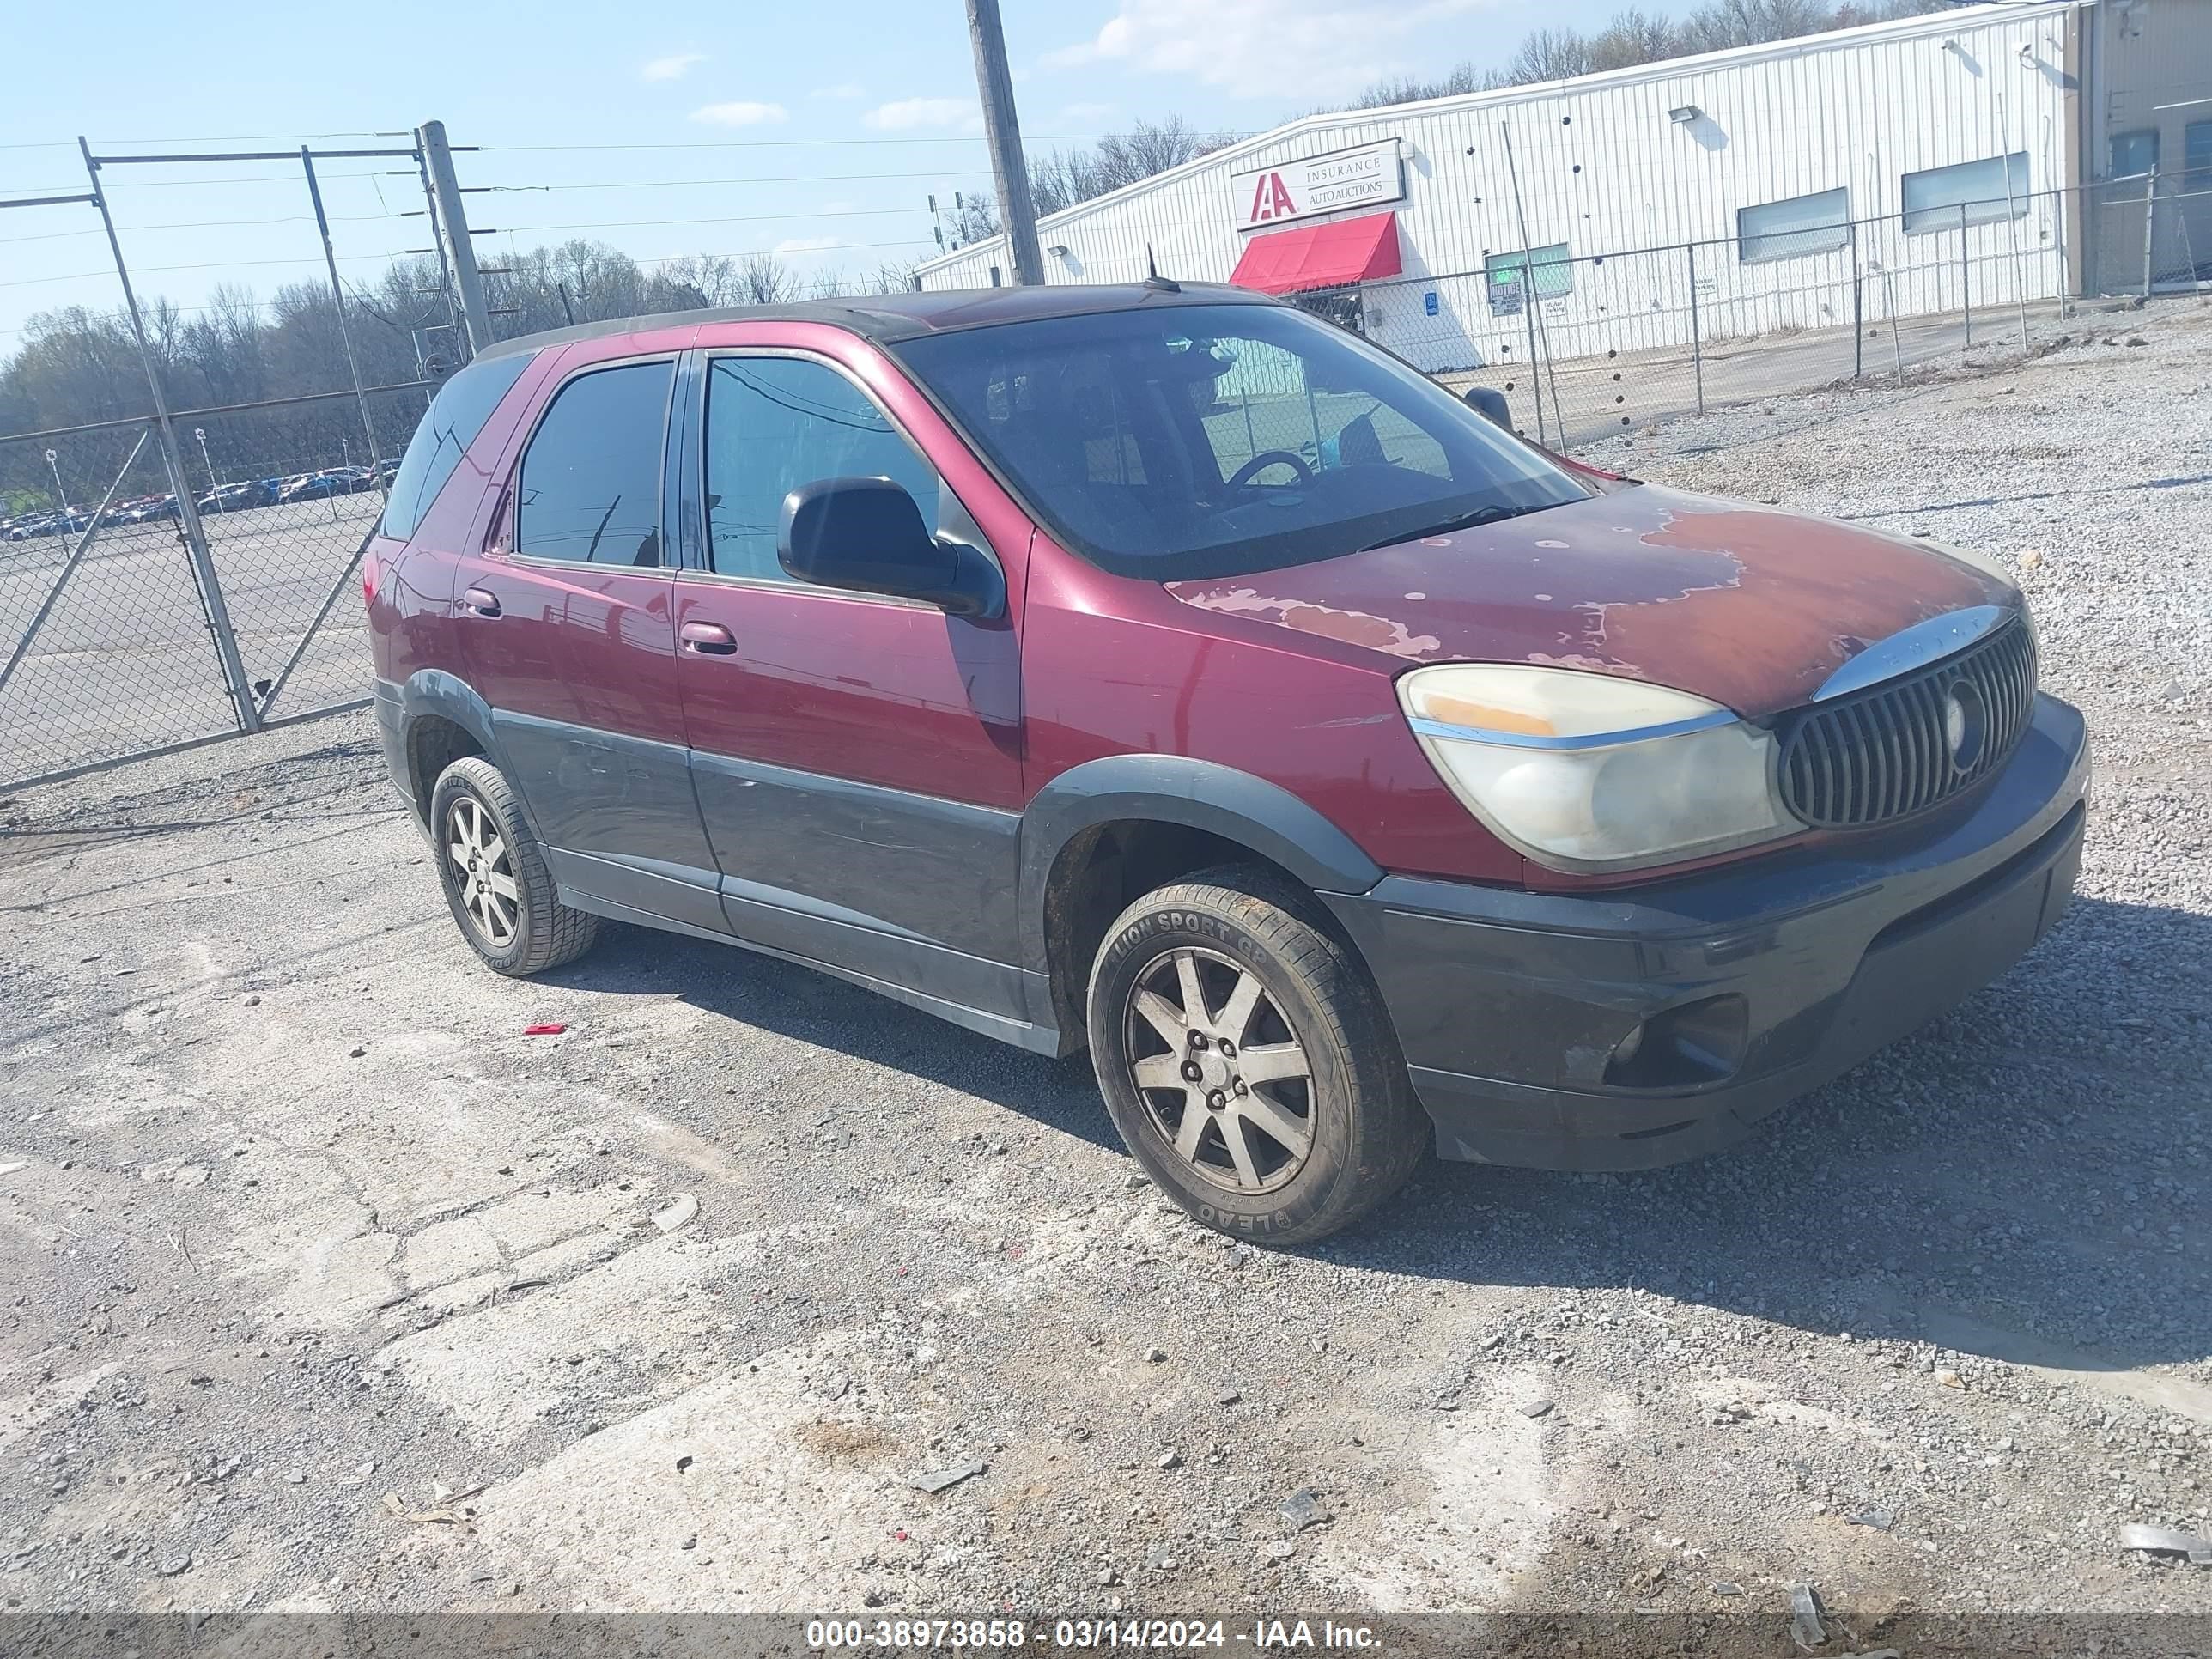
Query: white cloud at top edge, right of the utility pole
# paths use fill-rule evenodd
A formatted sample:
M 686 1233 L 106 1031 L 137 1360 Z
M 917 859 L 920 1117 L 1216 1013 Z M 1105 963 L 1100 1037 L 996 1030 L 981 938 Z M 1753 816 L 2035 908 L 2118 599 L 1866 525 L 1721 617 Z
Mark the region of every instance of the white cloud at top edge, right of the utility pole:
M 1119 0 L 1091 40 L 1044 55 L 1053 69 L 1124 64 L 1190 75 L 1232 97 L 1332 97 L 1405 71 L 1389 49 L 1500 0 Z

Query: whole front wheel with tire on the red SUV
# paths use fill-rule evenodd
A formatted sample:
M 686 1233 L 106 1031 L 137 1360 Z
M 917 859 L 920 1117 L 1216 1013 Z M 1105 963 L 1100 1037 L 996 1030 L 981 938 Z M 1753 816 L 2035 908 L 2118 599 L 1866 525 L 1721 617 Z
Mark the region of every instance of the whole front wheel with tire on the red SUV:
M 1429 1148 L 1367 967 L 1274 872 L 1210 869 L 1139 898 L 1099 945 L 1086 1006 L 1115 1128 L 1210 1228 L 1325 1239 Z

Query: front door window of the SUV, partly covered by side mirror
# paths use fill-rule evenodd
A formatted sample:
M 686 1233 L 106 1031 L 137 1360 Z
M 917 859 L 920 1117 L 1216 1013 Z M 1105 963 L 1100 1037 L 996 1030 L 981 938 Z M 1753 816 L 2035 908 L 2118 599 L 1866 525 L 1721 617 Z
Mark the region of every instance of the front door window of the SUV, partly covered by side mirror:
M 783 498 L 821 478 L 905 484 L 938 520 L 938 473 L 883 409 L 827 363 L 717 356 L 706 380 L 708 562 L 721 575 L 787 582 L 776 564 Z

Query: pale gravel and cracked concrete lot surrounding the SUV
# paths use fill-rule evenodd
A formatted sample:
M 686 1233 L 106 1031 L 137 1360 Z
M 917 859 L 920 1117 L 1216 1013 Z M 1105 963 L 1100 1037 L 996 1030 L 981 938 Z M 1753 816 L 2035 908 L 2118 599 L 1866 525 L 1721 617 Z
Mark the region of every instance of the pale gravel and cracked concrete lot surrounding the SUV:
M 2212 312 L 2088 321 L 1610 456 L 1991 549 L 2099 745 L 2055 933 L 1674 1170 L 1256 1252 L 1084 1062 L 478 969 L 365 717 L 0 801 L 0 1599 L 2212 1613 Z

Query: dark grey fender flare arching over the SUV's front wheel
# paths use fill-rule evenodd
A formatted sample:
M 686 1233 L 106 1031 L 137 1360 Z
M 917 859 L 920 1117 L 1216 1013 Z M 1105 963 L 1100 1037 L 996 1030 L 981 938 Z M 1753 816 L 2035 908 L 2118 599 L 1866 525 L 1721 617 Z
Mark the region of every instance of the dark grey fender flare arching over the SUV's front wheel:
M 1117 818 L 1175 823 L 1237 841 L 1316 894 L 1365 894 L 1383 867 L 1318 810 L 1281 783 L 1183 754 L 1106 754 L 1073 765 L 1022 812 L 1022 964 L 1051 971 L 1046 896 L 1053 867 L 1075 836 Z

